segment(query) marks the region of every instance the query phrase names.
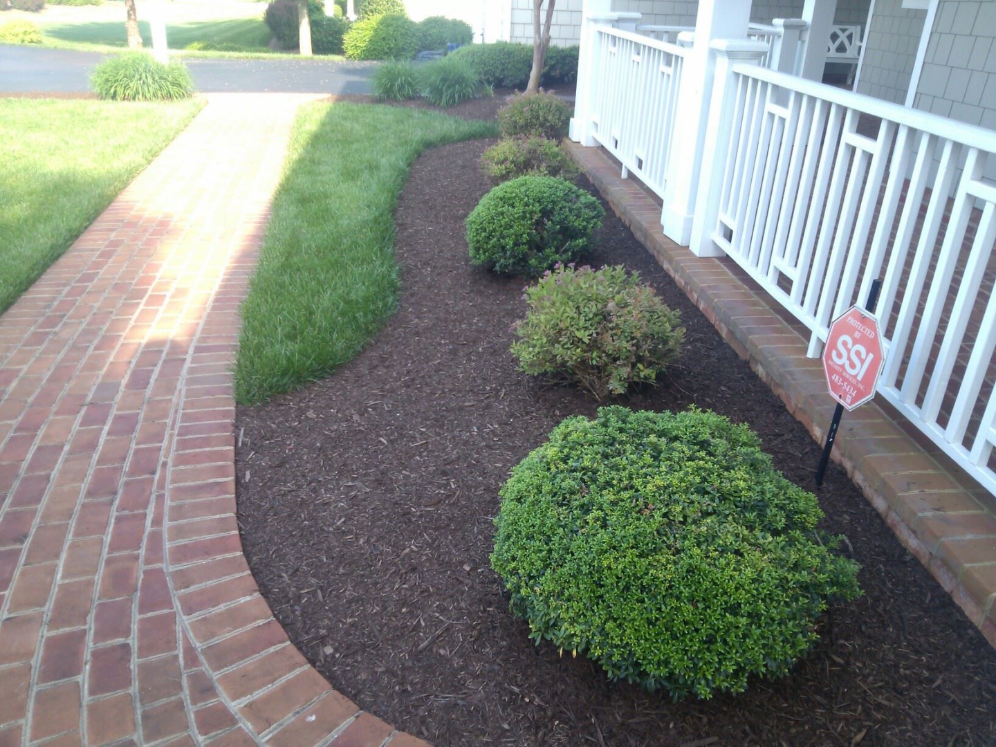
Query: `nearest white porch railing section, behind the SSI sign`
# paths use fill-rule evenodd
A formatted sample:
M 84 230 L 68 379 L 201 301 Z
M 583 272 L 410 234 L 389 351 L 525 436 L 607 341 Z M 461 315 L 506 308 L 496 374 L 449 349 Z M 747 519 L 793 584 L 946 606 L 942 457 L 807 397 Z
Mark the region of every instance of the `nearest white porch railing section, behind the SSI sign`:
M 996 132 L 726 63 L 696 225 L 812 331 L 811 356 L 881 276 L 879 392 L 996 492 Z

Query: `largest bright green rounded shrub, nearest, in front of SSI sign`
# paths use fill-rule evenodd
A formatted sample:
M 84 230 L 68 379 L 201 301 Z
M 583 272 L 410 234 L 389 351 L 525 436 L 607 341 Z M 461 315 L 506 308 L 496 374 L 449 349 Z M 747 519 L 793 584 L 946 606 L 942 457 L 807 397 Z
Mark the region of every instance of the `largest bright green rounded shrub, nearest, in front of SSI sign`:
M 570 417 L 501 499 L 491 565 L 530 636 L 675 699 L 785 674 L 861 594 L 816 497 L 711 412 Z

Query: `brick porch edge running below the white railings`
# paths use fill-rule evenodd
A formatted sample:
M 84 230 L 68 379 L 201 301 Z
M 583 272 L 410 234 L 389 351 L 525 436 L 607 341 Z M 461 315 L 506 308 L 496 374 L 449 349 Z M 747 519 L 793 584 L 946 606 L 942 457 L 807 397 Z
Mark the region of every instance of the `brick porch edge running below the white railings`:
M 657 198 L 598 147 L 568 147 L 633 234 L 814 438 L 834 412 L 810 332 L 726 258 L 695 257 L 660 230 Z M 881 397 L 849 412 L 834 459 L 899 540 L 996 646 L 996 497 Z

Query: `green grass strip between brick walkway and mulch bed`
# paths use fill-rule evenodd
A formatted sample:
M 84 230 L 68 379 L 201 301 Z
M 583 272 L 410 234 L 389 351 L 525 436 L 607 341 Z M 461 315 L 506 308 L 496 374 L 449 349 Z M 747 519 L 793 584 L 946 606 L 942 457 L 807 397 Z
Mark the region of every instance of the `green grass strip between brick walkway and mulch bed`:
M 360 352 L 395 308 L 393 212 L 411 162 L 434 145 L 496 134 L 422 110 L 302 110 L 242 307 L 239 402 L 297 388 Z

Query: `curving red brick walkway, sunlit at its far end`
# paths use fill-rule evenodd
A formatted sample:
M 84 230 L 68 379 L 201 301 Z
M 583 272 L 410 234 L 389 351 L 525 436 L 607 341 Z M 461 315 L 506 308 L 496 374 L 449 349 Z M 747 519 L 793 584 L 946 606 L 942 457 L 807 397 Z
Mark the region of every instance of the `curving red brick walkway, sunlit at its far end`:
M 215 95 L 0 317 L 0 745 L 424 745 L 332 690 L 235 520 L 238 305 L 294 95 Z

